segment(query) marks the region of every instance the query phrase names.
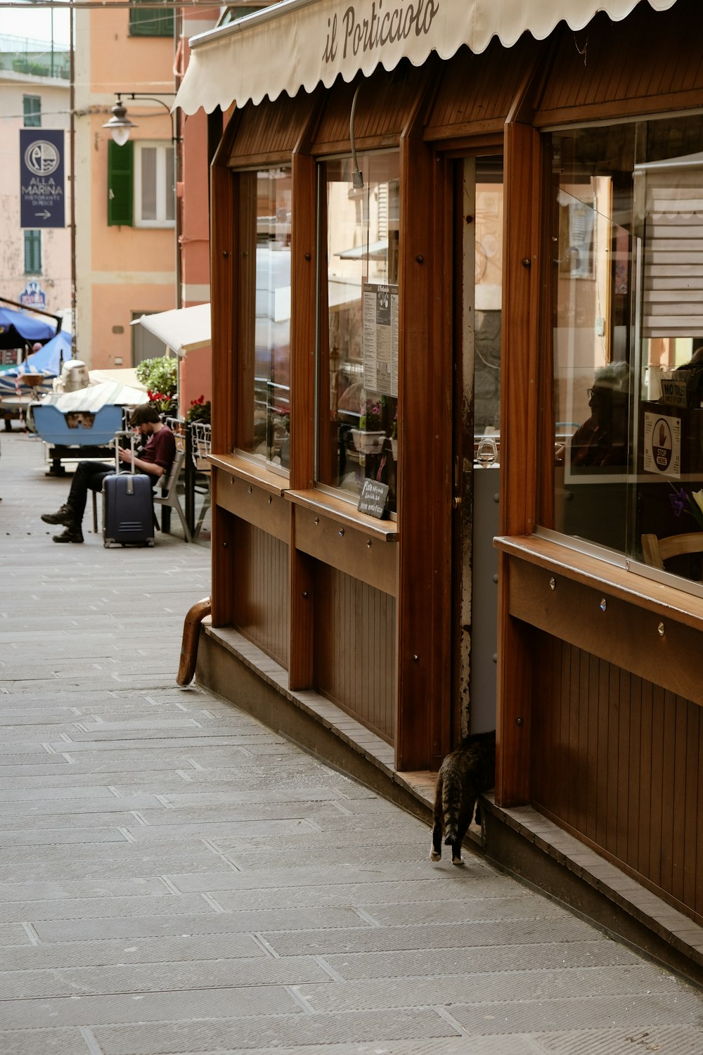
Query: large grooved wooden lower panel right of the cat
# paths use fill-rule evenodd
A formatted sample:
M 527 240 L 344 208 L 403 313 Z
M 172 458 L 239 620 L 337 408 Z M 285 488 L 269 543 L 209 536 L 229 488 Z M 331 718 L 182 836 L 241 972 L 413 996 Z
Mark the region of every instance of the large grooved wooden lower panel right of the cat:
M 703 922 L 701 708 L 534 636 L 534 805 Z

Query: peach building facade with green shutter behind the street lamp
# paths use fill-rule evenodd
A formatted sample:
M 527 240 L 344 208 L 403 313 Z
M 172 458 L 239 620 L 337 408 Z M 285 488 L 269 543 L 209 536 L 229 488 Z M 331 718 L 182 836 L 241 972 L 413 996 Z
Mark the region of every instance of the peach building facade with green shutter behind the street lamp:
M 76 12 L 76 339 L 79 357 L 93 368 L 144 358 L 135 353 L 132 320 L 177 301 L 173 205 L 171 215 L 151 226 L 140 226 L 136 209 L 131 226 L 109 225 L 112 148 L 102 127 L 118 92 L 161 98 L 164 107 L 139 99 L 126 104 L 138 126 L 131 135 L 135 156 L 145 143 L 165 156 L 173 135 L 167 107 L 174 92 L 174 39 L 135 36 L 130 12 L 110 8 Z M 173 194 L 173 180 L 171 188 Z M 135 186 L 135 202 L 138 194 Z

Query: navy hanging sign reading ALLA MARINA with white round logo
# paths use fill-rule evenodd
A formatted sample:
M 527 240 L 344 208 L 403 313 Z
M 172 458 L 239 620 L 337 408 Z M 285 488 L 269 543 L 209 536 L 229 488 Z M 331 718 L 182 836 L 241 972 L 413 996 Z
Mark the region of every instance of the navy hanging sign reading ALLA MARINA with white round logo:
M 65 227 L 63 129 L 20 129 L 20 227 Z

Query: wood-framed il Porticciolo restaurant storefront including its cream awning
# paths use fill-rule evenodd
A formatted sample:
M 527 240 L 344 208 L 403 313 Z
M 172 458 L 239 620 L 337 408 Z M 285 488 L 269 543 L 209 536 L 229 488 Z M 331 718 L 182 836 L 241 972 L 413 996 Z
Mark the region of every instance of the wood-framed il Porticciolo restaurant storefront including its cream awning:
M 192 41 L 177 103 L 229 118 L 198 676 L 227 694 L 236 630 L 399 773 L 496 728 L 496 810 L 698 934 L 699 5 L 533 6 L 289 0 Z

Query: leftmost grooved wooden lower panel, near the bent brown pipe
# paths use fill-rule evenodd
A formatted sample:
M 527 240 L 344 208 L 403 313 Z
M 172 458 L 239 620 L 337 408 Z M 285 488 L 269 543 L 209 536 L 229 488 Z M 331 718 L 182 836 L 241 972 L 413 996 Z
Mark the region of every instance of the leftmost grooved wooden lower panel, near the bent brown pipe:
M 233 521 L 233 625 L 288 667 L 288 546 L 260 528 Z

